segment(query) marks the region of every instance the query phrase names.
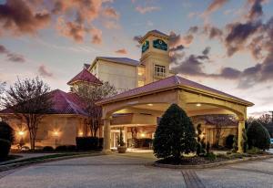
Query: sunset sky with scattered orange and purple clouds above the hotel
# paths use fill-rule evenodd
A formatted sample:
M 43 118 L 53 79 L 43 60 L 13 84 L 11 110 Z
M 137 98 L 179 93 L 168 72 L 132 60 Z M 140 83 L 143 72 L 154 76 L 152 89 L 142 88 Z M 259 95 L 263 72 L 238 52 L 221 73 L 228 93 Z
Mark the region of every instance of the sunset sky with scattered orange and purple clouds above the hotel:
M 68 91 L 95 57 L 139 59 L 153 29 L 177 74 L 255 103 L 248 116 L 273 110 L 273 0 L 0 0 L 0 81 Z

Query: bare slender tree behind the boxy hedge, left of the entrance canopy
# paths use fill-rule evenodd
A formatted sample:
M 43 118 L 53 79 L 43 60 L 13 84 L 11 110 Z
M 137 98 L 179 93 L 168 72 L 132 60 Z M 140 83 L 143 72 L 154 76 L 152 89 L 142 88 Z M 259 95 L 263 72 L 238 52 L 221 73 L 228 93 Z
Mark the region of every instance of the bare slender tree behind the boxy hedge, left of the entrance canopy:
M 83 99 L 86 105 L 87 119 L 85 123 L 90 127 L 91 136 L 96 137 L 101 126 L 102 108 L 96 105 L 96 101 L 116 95 L 116 89 L 109 82 L 102 85 L 82 84 L 76 88 L 76 94 Z

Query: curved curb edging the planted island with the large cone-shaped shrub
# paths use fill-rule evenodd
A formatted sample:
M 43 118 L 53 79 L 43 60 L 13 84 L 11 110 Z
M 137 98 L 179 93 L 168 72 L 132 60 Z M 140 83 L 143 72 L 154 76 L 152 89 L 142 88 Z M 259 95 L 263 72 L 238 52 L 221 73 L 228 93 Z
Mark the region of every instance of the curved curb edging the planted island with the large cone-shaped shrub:
M 230 160 L 226 162 L 215 162 L 215 163 L 200 164 L 200 165 L 172 165 L 172 164 L 162 164 L 158 162 L 154 162 L 152 165 L 155 167 L 169 168 L 169 169 L 204 169 L 204 168 L 214 168 L 214 167 L 238 163 L 238 162 L 258 161 L 258 160 L 266 160 L 270 158 L 273 158 L 273 155 L 248 157 L 243 159 Z

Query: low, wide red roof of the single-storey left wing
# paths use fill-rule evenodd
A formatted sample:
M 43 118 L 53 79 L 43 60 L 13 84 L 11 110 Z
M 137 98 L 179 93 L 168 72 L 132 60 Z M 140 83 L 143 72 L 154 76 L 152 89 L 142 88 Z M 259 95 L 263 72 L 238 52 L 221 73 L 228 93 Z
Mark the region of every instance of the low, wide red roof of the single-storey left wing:
M 53 107 L 49 114 L 74 114 L 87 116 L 85 103 L 76 95 L 76 93 L 66 93 L 60 89 L 53 90 L 49 93 Z M 0 113 L 13 113 L 12 110 L 1 110 Z

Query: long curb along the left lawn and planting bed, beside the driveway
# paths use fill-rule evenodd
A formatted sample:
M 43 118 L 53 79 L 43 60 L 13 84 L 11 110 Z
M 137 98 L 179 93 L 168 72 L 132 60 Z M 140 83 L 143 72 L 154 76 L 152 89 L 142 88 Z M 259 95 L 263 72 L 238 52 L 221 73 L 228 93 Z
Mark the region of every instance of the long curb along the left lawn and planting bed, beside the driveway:
M 8 171 L 8 170 L 23 167 L 23 166 L 27 166 L 30 164 L 38 164 L 38 163 L 44 163 L 44 162 L 56 162 L 56 161 L 61 161 L 61 160 L 68 160 L 68 159 L 81 158 L 81 157 L 93 157 L 93 156 L 99 156 L 99 155 L 106 155 L 106 153 L 104 153 L 104 152 L 85 153 L 85 154 L 76 154 L 76 155 L 70 155 L 70 156 L 56 157 L 56 158 L 51 158 L 51 159 L 50 158 L 49 159 L 37 159 L 35 161 L 30 161 L 30 162 L 9 163 L 9 164 L 0 165 L 0 172 Z

